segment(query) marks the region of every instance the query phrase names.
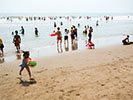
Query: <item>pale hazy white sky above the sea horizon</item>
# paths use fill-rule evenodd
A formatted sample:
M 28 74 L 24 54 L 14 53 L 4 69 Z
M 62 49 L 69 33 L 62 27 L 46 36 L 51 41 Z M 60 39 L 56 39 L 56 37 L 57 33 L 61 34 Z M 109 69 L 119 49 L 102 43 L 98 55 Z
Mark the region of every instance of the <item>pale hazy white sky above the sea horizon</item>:
M 133 13 L 133 0 L 0 0 L 0 13 Z

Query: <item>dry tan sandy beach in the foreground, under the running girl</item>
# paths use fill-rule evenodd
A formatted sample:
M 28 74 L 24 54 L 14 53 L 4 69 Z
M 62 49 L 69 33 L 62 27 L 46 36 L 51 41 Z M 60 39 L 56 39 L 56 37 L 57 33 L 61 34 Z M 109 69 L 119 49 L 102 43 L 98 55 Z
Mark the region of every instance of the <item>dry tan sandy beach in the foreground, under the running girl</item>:
M 31 81 L 20 62 L 0 64 L 0 100 L 133 100 L 133 45 L 37 59 Z

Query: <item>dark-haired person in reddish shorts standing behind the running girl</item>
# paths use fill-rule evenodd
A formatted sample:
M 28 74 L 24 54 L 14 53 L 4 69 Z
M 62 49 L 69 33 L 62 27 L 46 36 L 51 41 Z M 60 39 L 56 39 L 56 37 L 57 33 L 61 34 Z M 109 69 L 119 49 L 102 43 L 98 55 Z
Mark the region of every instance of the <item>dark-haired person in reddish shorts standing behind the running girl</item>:
M 20 36 L 18 35 L 18 31 L 17 31 L 17 30 L 15 31 L 15 33 L 16 33 L 16 35 L 15 35 L 14 38 L 13 38 L 13 43 L 14 43 L 14 45 L 16 46 L 17 52 L 19 52 L 19 50 L 20 50 L 21 38 L 20 38 Z

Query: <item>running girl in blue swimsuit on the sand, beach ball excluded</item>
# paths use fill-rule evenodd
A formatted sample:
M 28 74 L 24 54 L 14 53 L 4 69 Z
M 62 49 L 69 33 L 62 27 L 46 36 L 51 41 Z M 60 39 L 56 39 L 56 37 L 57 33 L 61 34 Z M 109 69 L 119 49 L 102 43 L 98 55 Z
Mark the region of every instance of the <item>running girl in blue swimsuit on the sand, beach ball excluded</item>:
M 30 53 L 29 51 L 23 51 L 23 60 L 22 60 L 22 64 L 20 64 L 19 66 L 21 67 L 20 71 L 19 71 L 19 75 L 21 75 L 21 72 L 24 70 L 24 68 L 26 68 L 26 70 L 28 71 L 29 77 L 31 78 L 31 72 L 30 72 L 30 68 L 28 65 L 29 60 L 31 60 L 31 58 L 29 58 Z

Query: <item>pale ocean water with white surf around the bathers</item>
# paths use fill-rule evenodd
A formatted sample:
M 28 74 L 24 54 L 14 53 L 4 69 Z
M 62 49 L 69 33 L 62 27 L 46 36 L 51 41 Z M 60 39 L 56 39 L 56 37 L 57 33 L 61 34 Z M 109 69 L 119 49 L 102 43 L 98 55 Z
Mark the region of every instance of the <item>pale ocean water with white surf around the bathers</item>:
M 3 16 L 2 16 L 3 17 Z M 4 59 L 5 61 L 13 61 L 18 58 L 20 54 L 17 54 L 16 48 L 13 41 L 13 35 L 11 34 L 15 30 L 20 30 L 21 26 L 25 29 L 25 35 L 19 34 L 21 36 L 21 49 L 29 50 L 31 52 L 32 58 L 52 56 L 60 54 L 61 52 L 71 52 L 75 50 L 86 49 L 85 37 L 82 33 L 85 25 L 93 27 L 93 38 L 92 41 L 95 43 L 96 48 L 109 46 L 114 44 L 121 44 L 121 40 L 129 34 L 130 40 L 133 41 L 133 16 L 128 15 L 117 15 L 113 17 L 113 20 L 106 21 L 103 16 L 93 16 L 91 19 L 86 19 L 85 16 L 75 17 L 74 19 L 70 16 L 71 20 L 66 20 L 65 18 L 57 18 L 56 20 L 50 20 L 46 17 L 46 21 L 26 21 L 25 18 L 18 20 L 17 17 L 11 21 L 6 19 L 0 19 L 0 38 L 3 39 L 5 45 Z M 99 20 L 99 26 L 96 26 L 96 21 Z M 63 22 L 63 26 L 60 26 L 60 22 Z M 69 46 L 66 48 L 62 45 L 59 50 L 56 47 L 56 37 L 49 36 L 54 28 L 53 23 L 56 22 L 57 26 L 61 28 L 62 36 L 64 36 L 64 29 L 70 30 L 72 25 L 75 25 L 78 29 L 78 41 L 76 42 L 76 47 L 71 45 L 70 33 L 69 33 Z M 80 23 L 80 27 L 78 27 Z M 35 37 L 34 28 L 37 27 L 39 31 L 39 37 Z M 64 38 L 63 43 L 64 44 Z M 62 50 L 61 50 L 62 49 Z

